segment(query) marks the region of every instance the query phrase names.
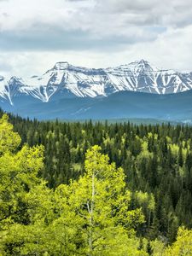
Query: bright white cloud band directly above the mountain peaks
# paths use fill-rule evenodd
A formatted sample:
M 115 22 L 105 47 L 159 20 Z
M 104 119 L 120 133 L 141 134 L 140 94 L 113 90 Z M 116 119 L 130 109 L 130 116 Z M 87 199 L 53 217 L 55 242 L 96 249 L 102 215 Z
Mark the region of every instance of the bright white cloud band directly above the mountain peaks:
M 182 39 L 181 39 L 182 38 Z M 132 44 L 111 53 L 92 51 L 20 52 L 0 54 L 0 73 L 21 77 L 42 74 L 56 61 L 85 67 L 111 67 L 146 59 L 156 67 L 192 71 L 192 26 L 170 29 L 155 41 Z M 3 63 L 5 70 L 3 71 Z M 12 69 L 8 69 L 13 67 Z

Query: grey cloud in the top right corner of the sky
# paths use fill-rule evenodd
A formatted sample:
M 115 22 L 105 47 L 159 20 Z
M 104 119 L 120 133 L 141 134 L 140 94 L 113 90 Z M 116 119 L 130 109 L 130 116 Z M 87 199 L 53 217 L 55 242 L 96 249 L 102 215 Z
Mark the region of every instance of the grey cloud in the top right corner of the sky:
M 131 16 L 138 20 L 138 26 L 185 26 L 192 22 L 190 0 L 97 0 L 96 7 L 107 15 Z

